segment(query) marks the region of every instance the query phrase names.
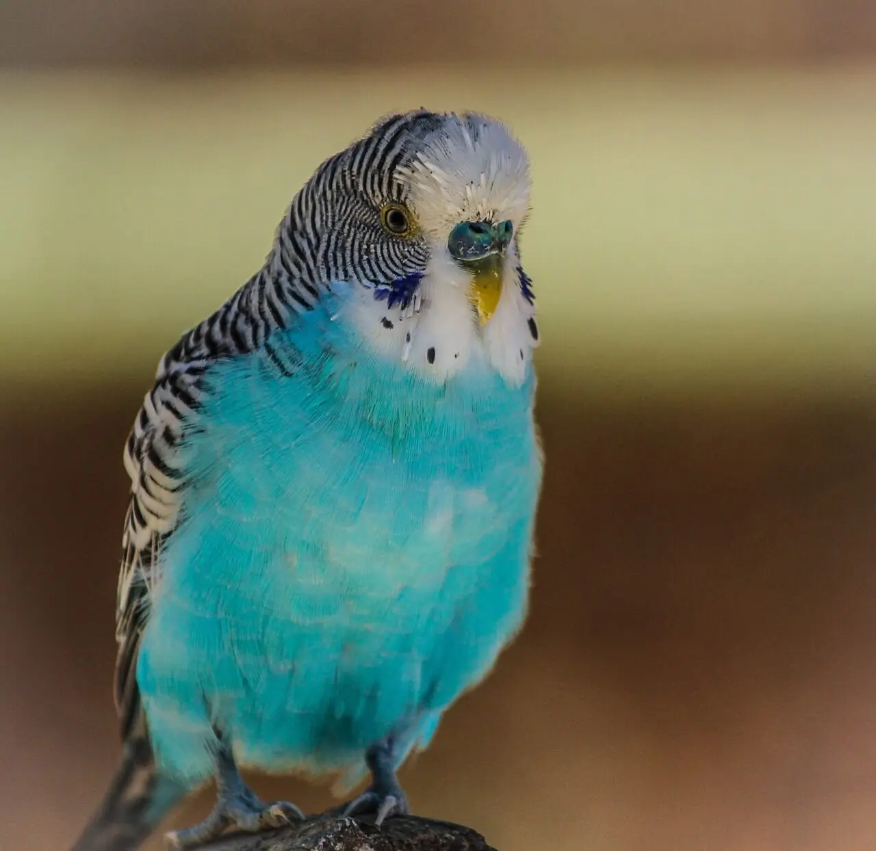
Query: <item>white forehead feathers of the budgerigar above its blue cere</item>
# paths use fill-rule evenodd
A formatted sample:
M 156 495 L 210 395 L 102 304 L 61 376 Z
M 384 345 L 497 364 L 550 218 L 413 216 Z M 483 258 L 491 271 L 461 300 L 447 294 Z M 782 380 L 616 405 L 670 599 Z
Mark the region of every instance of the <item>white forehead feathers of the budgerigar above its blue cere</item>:
M 399 180 L 420 228 L 446 239 L 459 222 L 511 219 L 516 230 L 529 207 L 529 158 L 498 121 L 450 113 Z

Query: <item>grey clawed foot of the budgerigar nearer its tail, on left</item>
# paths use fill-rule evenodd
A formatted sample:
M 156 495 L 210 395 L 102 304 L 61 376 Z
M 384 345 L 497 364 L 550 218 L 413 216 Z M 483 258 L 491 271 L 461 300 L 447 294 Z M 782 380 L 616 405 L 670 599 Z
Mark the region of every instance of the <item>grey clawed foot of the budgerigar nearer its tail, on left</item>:
M 219 839 L 228 830 L 258 833 L 304 819 L 304 813 L 287 801 L 265 804 L 246 786 L 220 797 L 200 825 L 165 834 L 168 846 L 188 849 Z

